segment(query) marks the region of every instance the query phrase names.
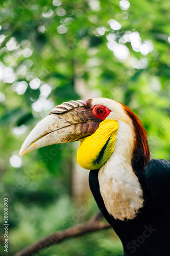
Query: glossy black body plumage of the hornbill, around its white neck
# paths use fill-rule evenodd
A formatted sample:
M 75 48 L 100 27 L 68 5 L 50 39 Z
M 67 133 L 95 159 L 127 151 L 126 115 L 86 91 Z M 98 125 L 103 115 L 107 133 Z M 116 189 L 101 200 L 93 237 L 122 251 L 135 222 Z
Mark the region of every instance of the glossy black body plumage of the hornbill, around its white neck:
M 99 170 L 90 170 L 89 185 L 99 209 L 124 246 L 125 256 L 170 255 L 170 163 L 153 159 L 134 170 L 143 191 L 143 207 L 133 220 L 109 215 L 100 193 Z

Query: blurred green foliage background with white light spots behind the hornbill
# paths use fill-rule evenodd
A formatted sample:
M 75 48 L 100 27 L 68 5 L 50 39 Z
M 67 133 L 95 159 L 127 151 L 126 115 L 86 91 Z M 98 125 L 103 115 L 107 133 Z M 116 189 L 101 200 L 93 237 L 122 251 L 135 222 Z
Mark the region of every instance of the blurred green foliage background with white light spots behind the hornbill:
M 9 198 L 9 253 L 98 210 L 78 143 L 19 157 L 28 133 L 57 104 L 107 97 L 148 132 L 151 157 L 169 160 L 168 0 L 5 0 L 0 14 L 1 223 Z M 0 253 L 4 255 L 1 225 Z M 37 255 L 122 255 L 114 232 L 86 234 Z

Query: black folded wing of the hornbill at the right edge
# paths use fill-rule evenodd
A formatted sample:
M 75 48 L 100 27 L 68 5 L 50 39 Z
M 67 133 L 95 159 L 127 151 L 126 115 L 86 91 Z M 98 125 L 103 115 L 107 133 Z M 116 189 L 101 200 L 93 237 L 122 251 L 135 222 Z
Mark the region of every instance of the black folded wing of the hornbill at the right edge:
M 145 181 L 156 203 L 170 218 L 170 163 L 152 159 L 145 170 Z

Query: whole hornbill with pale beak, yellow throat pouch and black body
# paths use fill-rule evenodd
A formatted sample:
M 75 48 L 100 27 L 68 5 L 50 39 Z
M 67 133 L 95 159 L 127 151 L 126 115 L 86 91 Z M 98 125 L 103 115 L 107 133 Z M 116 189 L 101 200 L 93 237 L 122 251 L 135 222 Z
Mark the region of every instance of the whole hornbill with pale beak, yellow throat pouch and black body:
M 78 163 L 90 169 L 90 189 L 124 255 L 170 255 L 170 164 L 150 161 L 137 116 L 107 98 L 64 102 L 35 126 L 20 155 L 77 140 Z

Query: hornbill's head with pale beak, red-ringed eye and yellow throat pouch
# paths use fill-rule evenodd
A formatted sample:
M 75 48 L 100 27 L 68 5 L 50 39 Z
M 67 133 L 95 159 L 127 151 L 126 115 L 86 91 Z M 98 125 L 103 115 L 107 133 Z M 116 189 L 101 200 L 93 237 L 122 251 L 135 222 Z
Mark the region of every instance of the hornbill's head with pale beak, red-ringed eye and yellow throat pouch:
M 99 169 L 114 152 L 124 152 L 137 169 L 149 162 L 147 134 L 140 120 L 127 106 L 107 98 L 56 106 L 34 127 L 19 154 L 77 140 L 81 141 L 77 160 L 85 169 Z

